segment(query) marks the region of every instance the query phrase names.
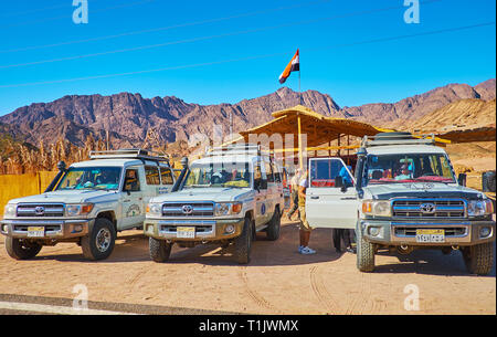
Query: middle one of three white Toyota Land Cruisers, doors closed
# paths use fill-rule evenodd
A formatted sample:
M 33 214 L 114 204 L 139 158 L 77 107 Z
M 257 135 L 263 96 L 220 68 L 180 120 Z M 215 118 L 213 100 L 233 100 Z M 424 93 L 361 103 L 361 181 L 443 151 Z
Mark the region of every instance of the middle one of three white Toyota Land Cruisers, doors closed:
M 279 236 L 284 210 L 282 169 L 253 145 L 215 148 L 181 172 L 180 191 L 152 198 L 145 234 L 150 257 L 169 259 L 171 246 L 234 245 L 239 263 L 250 262 L 255 232 Z

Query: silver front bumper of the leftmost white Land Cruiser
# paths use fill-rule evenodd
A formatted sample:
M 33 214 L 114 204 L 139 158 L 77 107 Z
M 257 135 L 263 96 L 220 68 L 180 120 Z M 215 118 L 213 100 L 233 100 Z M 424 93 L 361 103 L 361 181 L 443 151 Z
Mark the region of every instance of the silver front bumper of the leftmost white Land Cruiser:
M 0 233 L 14 239 L 33 240 L 65 240 L 78 236 L 85 236 L 89 233 L 93 225 L 93 219 L 72 219 L 72 220 L 40 220 L 40 219 L 15 219 L 0 221 Z M 28 228 L 44 228 L 43 236 L 31 238 L 28 234 Z

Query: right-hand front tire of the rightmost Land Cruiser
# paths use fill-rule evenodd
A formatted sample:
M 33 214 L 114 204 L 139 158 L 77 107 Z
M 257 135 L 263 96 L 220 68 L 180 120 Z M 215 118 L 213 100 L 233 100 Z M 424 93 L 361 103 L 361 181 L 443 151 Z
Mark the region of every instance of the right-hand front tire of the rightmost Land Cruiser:
M 494 243 L 487 242 L 465 248 L 463 257 L 470 274 L 488 275 L 494 265 Z

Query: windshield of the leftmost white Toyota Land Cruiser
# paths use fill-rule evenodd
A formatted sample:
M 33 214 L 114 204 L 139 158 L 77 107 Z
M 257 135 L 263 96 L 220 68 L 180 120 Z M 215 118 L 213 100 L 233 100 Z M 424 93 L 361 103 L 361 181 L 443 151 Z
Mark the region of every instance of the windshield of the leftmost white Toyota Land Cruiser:
M 72 167 L 55 190 L 117 190 L 120 171 L 120 167 Z

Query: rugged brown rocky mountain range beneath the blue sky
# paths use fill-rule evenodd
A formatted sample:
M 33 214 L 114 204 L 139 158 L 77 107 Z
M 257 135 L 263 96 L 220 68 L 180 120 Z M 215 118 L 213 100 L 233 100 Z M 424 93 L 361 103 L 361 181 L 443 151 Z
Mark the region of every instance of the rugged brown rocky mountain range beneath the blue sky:
M 396 103 L 340 107 L 328 94 L 306 91 L 303 105 L 334 117 L 353 118 L 378 126 L 416 120 L 461 99 L 491 101 L 496 81 L 476 86 L 448 84 Z M 108 133 L 115 146 L 141 146 L 150 130 L 159 141 L 188 140 L 195 133 L 212 136 L 213 123 L 223 125 L 228 134 L 266 123 L 271 113 L 299 103 L 299 94 L 287 87 L 235 104 L 199 105 L 175 97 L 144 98 L 140 94 L 120 93 L 112 96 L 71 95 L 51 103 L 35 103 L 1 116 L 0 125 L 24 141 L 38 145 L 59 138 L 74 145 L 87 136 L 104 139 Z

